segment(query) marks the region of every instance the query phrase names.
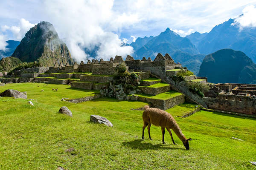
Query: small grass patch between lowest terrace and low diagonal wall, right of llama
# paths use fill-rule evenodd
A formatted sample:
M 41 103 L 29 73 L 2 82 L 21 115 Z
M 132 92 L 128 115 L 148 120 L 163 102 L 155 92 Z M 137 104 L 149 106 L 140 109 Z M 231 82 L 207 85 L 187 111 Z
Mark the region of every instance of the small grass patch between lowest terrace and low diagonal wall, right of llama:
M 180 105 L 176 105 L 173 108 L 169 108 L 166 111 L 173 116 L 184 116 L 187 113 L 195 111 L 195 109 L 196 109 L 195 106 L 196 106 L 196 104 L 183 103 Z

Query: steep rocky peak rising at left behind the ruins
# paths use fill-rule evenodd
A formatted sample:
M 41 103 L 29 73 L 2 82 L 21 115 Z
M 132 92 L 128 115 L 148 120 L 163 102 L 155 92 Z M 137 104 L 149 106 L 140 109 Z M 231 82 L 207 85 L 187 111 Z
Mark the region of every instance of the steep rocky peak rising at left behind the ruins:
M 63 65 L 73 64 L 67 45 L 59 39 L 52 24 L 45 21 L 30 28 L 12 57 L 22 62 L 38 61 L 43 66 L 53 66 L 57 61 Z

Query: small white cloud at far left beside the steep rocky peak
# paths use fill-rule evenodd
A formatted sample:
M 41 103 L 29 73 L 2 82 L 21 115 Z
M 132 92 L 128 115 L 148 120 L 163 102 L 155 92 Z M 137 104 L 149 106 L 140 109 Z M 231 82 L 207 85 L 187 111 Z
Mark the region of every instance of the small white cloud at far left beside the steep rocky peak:
M 15 37 L 15 40 L 21 40 L 27 31 L 29 31 L 30 28 L 34 27 L 35 24 L 29 23 L 28 20 L 25 20 L 24 18 L 20 19 L 20 23 L 18 26 L 2 26 L 1 29 L 3 32 L 10 30 L 12 31 L 12 34 Z

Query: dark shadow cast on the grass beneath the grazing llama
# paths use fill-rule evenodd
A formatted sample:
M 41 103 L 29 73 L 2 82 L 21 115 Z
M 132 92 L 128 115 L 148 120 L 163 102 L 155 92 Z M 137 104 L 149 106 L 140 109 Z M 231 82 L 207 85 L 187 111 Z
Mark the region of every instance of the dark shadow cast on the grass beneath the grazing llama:
M 186 150 L 185 148 L 177 147 L 174 144 L 151 144 L 151 143 L 142 143 L 143 139 L 135 139 L 130 142 L 122 142 L 125 147 L 130 147 L 132 149 L 140 149 L 140 150 Z

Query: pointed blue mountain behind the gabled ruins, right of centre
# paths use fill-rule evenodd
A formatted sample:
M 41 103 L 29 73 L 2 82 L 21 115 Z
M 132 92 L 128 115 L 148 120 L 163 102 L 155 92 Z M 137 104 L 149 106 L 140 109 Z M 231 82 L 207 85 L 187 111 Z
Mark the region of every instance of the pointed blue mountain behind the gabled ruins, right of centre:
M 175 51 L 182 51 L 191 55 L 199 54 L 198 49 L 188 38 L 180 37 L 170 28 L 166 28 L 166 31 L 161 32 L 156 37 L 152 37 L 145 45 L 137 49 L 134 57 L 155 57 L 157 53 L 168 53 L 172 56 Z

